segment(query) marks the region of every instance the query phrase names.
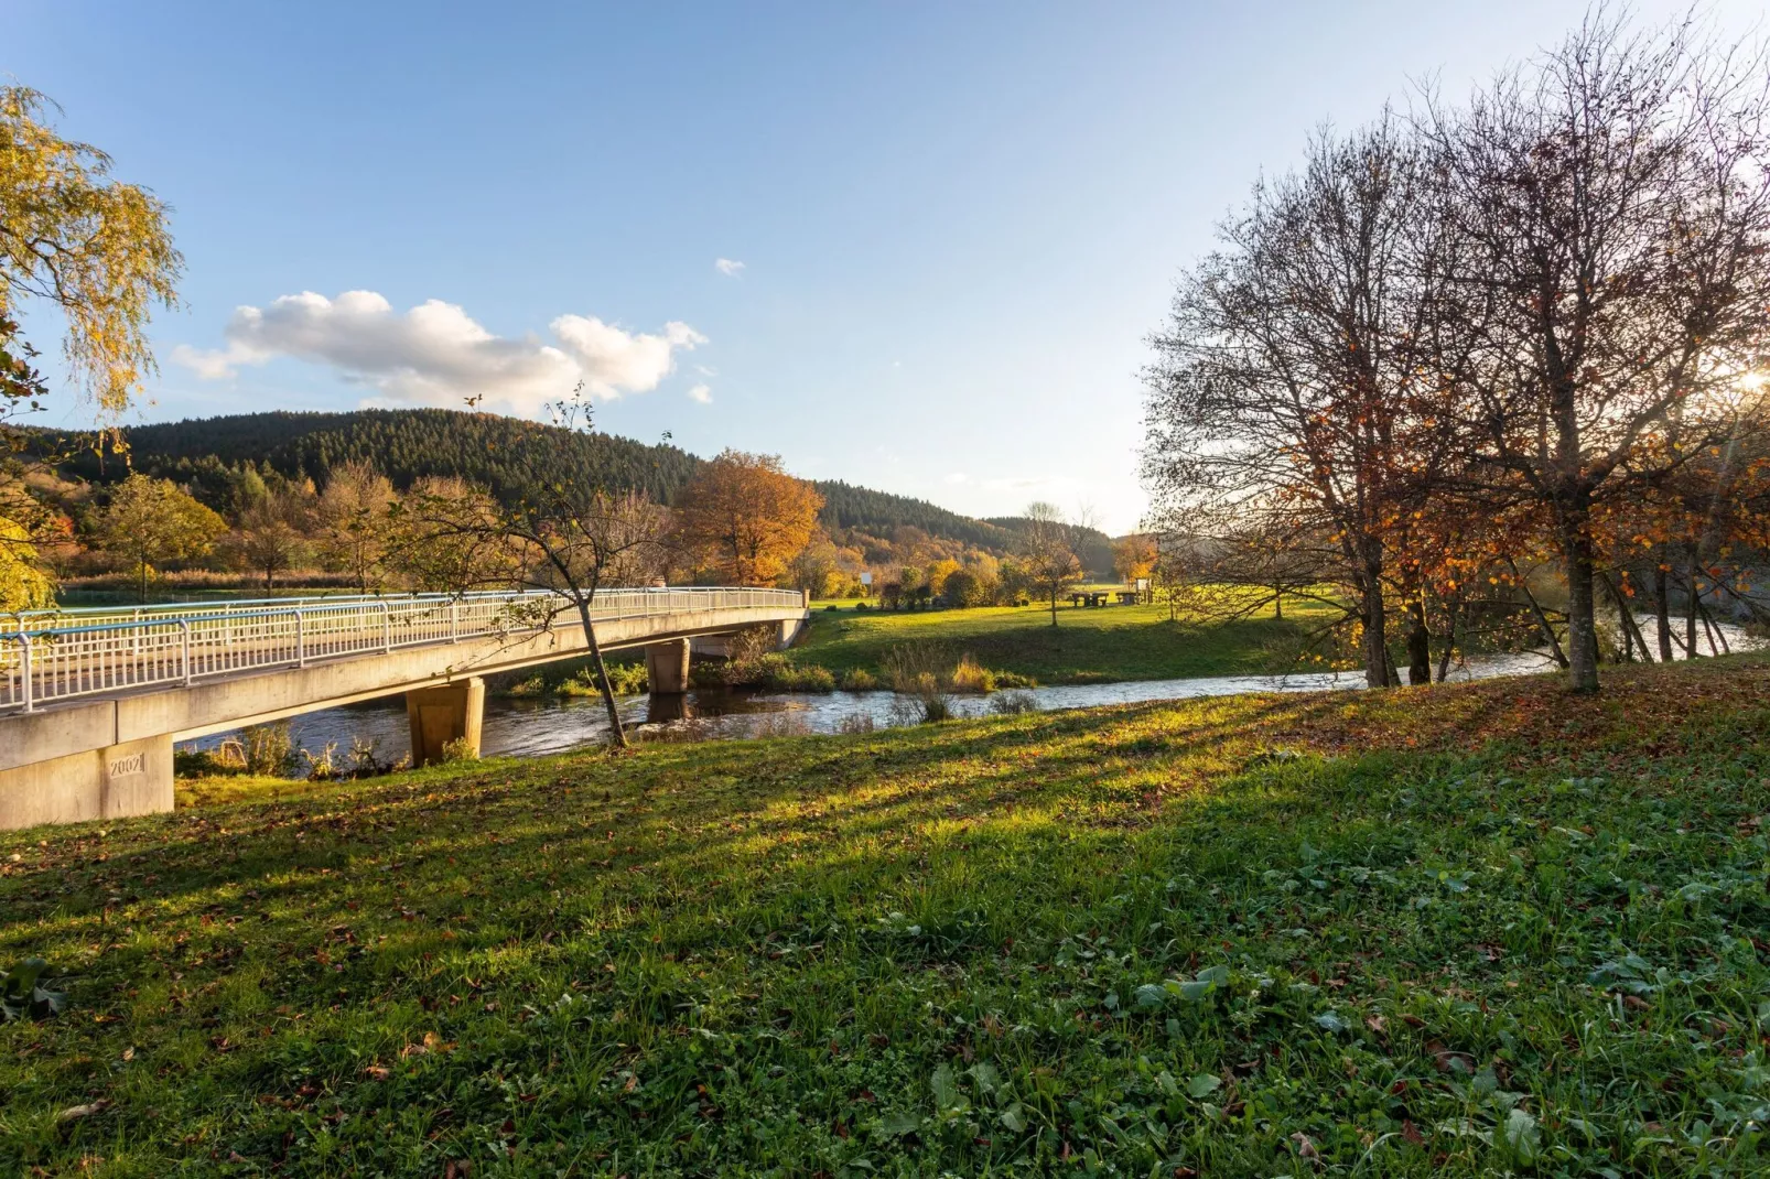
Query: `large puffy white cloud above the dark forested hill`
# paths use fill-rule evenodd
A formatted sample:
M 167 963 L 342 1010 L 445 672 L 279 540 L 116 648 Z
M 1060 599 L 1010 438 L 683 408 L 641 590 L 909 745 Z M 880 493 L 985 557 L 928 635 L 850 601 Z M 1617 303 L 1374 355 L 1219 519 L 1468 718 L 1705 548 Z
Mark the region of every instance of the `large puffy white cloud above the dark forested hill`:
M 604 400 L 655 389 L 676 366 L 678 349 L 706 343 L 681 322 L 650 335 L 589 315 L 561 315 L 549 328 L 552 342 L 533 333 L 494 336 L 441 299 L 398 313 L 373 290 L 347 290 L 336 299 L 304 290 L 267 308 L 237 308 L 225 349 L 179 345 L 172 359 L 205 381 L 219 381 L 241 365 L 292 356 L 338 370 L 345 381 L 373 389 L 381 402 L 453 407 L 483 397 L 533 414 L 579 381 Z

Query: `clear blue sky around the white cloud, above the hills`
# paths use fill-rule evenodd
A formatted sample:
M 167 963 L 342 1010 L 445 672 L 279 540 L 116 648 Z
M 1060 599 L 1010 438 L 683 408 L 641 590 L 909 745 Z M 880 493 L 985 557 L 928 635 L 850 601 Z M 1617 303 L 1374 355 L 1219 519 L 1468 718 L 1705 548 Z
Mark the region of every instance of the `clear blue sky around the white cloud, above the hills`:
M 1143 338 L 1214 223 L 1584 7 L 0 0 L 0 73 L 173 205 L 143 420 L 582 377 L 614 434 L 1122 531 Z

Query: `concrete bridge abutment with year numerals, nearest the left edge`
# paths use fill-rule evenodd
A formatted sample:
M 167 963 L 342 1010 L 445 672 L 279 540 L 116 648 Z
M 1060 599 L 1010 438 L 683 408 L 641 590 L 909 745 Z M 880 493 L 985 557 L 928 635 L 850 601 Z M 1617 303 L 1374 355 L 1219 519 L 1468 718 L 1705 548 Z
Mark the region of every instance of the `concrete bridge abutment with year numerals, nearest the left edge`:
M 170 735 L 0 770 L 0 830 L 170 809 Z

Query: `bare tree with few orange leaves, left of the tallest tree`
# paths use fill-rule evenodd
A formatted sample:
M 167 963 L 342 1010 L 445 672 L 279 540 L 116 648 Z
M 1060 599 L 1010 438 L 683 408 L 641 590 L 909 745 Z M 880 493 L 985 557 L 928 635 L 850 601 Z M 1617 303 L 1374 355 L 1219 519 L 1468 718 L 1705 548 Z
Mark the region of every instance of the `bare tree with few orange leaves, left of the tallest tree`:
M 1145 370 L 1143 478 L 1163 531 L 1195 538 L 1230 581 L 1343 586 L 1372 687 L 1393 680 L 1397 522 L 1432 469 L 1420 205 L 1395 119 L 1319 135 L 1303 172 L 1257 186 L 1181 281 Z

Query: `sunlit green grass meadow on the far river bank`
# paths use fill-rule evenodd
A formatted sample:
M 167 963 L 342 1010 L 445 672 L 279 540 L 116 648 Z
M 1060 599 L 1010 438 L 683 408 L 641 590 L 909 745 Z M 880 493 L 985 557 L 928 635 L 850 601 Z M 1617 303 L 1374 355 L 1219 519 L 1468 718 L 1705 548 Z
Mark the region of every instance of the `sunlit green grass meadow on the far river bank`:
M 1322 607 L 1287 602 L 1285 618 L 1230 623 L 1168 621 L 1166 605 L 1103 609 L 989 605 L 950 611 L 812 609 L 809 636 L 793 659 L 841 674 L 860 667 L 878 674 L 880 660 L 899 643 L 938 643 L 954 659 L 970 653 L 993 671 L 1012 671 L 1039 683 L 1108 680 L 1172 680 L 1234 676 L 1294 669 L 1301 636 L 1320 627 Z

